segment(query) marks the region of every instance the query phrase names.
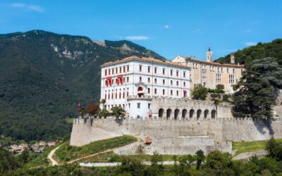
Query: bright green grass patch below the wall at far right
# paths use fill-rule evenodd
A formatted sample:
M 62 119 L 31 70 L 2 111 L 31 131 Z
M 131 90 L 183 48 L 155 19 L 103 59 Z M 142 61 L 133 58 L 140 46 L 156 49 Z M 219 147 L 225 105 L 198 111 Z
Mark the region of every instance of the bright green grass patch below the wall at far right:
M 276 139 L 276 141 L 282 143 L 282 139 Z M 266 142 L 268 142 L 268 140 L 254 142 L 232 142 L 232 149 L 237 150 L 235 156 L 245 152 L 262 151 L 265 149 Z

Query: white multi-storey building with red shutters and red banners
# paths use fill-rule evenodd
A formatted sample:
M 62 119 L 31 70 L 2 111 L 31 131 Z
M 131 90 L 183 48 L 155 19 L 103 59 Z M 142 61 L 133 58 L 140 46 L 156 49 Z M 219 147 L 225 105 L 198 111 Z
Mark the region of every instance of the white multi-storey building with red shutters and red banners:
M 104 63 L 101 71 L 101 99 L 106 100 L 104 108 L 107 110 L 121 106 L 130 113 L 129 106 L 133 104 L 128 103 L 129 96 L 190 97 L 190 68 L 185 65 L 131 56 Z M 149 112 L 149 101 L 142 100 L 139 108 L 135 101 L 134 109 L 143 111 L 146 107 Z

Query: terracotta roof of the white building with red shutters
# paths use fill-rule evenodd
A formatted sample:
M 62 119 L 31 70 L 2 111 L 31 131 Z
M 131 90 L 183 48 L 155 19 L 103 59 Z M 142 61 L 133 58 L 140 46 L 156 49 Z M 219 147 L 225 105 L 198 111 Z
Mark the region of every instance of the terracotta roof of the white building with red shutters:
M 157 58 L 147 58 L 147 57 L 143 57 L 143 56 L 129 56 L 127 58 L 120 58 L 120 59 L 117 59 L 115 61 L 103 63 L 101 65 L 101 67 L 104 67 L 104 66 L 107 66 L 107 65 L 113 65 L 113 64 L 116 64 L 116 63 L 123 63 L 123 62 L 127 62 L 127 61 L 133 61 L 133 60 L 147 61 L 147 62 L 153 62 L 153 63 L 161 63 L 161 64 L 165 64 L 165 65 L 174 65 L 174 66 L 178 66 L 178 67 L 190 68 L 189 66 L 182 65 L 180 63 L 160 60 L 160 59 L 157 59 Z

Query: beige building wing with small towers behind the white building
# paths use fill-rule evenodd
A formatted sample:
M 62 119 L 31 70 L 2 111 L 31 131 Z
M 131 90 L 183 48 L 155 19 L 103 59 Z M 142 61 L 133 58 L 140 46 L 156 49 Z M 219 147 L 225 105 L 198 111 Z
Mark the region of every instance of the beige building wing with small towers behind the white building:
M 211 89 L 216 88 L 216 84 L 223 84 L 227 93 L 233 93 L 233 84 L 236 84 L 242 72 L 244 65 L 235 63 L 235 56 L 231 54 L 231 63 L 213 62 L 213 52 L 209 47 L 207 51 L 207 61 L 198 60 L 192 57 L 176 56 L 173 62 L 187 65 L 191 68 L 190 88 L 194 89 L 197 84 Z

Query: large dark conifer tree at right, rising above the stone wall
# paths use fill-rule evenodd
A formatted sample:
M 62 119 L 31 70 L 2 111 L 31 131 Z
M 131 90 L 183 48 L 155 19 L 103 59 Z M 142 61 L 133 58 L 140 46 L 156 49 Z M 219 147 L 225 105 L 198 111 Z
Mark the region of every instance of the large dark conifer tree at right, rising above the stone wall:
M 252 61 L 235 85 L 233 94 L 235 117 L 272 118 L 275 89 L 282 86 L 282 68 L 276 58 Z

